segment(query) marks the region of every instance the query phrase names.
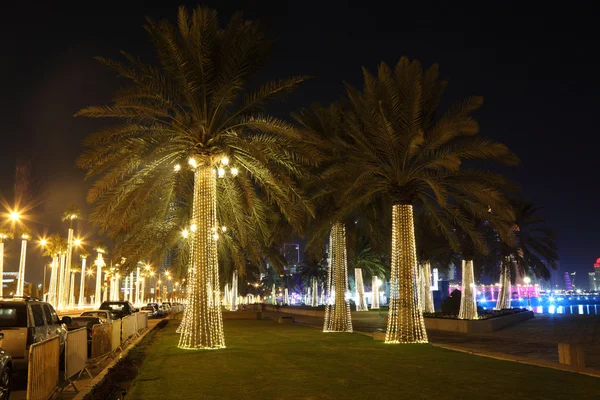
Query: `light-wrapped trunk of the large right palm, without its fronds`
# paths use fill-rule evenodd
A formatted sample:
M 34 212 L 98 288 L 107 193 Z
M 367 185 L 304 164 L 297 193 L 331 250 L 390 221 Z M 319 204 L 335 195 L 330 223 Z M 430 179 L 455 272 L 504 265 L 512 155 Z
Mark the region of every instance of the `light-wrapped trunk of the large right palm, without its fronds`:
M 419 309 L 415 224 L 411 205 L 392 206 L 392 271 L 386 343 L 427 343 Z

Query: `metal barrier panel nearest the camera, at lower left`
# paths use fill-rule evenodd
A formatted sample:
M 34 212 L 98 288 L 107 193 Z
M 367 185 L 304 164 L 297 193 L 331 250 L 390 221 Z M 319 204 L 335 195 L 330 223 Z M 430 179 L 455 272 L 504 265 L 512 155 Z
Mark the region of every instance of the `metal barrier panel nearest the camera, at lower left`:
M 60 339 L 55 336 L 29 347 L 27 400 L 49 399 L 58 388 Z

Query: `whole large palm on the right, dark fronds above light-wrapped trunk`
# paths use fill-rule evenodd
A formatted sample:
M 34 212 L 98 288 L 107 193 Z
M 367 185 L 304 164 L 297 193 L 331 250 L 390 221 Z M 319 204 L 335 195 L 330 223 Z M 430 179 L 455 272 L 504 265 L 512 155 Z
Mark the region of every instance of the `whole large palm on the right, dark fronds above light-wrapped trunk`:
M 458 247 L 455 227 L 481 247 L 473 220 L 488 219 L 489 207 L 495 210 L 494 224 L 512 220 L 512 210 L 499 189 L 506 180 L 466 168 L 462 162 L 511 164 L 517 159 L 506 146 L 477 136 L 479 127 L 471 114 L 481 106 L 480 97 L 439 112 L 447 83 L 439 79 L 437 65 L 423 71 L 418 61 L 402 57 L 394 70 L 381 63 L 377 77 L 366 69 L 363 74 L 362 92 L 346 85 L 349 104 L 344 126 L 352 146 L 344 162 L 329 172 L 353 178 L 342 191 L 344 205 L 338 215 L 369 204 L 387 204 L 392 209 L 386 342 L 426 342 L 416 283 L 413 208 L 430 215 L 453 248 Z M 502 235 L 508 233 L 502 230 Z

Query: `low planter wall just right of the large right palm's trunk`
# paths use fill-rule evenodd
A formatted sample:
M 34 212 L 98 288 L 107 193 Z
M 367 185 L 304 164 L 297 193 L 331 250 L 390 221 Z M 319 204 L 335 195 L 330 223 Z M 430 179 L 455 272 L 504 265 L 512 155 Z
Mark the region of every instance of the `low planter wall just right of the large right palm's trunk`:
M 495 332 L 504 327 L 517 324 L 521 321 L 533 318 L 532 311 L 506 315 L 482 320 L 465 320 L 449 318 L 425 318 L 427 330 L 450 331 L 460 333 L 488 333 Z

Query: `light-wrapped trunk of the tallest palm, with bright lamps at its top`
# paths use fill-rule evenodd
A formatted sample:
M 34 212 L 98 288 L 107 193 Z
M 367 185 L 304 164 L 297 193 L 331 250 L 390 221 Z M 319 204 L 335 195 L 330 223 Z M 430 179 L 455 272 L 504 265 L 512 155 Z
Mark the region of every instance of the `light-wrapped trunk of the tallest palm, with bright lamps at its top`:
M 179 348 L 225 347 L 223 318 L 219 304 L 217 260 L 217 181 L 212 159 L 196 157 L 190 232 L 187 307 L 181 321 Z

